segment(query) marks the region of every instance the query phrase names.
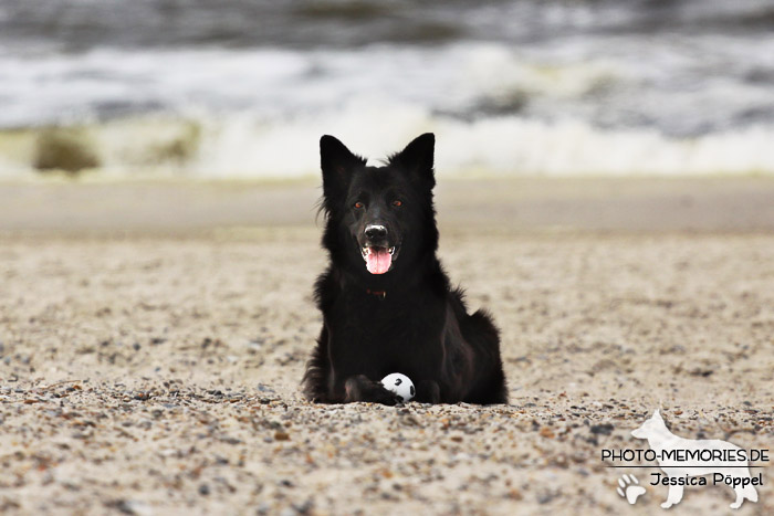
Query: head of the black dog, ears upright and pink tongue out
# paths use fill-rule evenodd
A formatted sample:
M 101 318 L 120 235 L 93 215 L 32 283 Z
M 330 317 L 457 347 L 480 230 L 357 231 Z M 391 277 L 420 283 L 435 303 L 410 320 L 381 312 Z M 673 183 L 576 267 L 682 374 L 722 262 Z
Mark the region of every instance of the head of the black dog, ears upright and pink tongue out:
M 369 167 L 333 136 L 321 138 L 324 243 L 334 260 L 386 274 L 420 244 L 435 251 L 433 147 L 435 136 L 425 134 L 385 166 Z

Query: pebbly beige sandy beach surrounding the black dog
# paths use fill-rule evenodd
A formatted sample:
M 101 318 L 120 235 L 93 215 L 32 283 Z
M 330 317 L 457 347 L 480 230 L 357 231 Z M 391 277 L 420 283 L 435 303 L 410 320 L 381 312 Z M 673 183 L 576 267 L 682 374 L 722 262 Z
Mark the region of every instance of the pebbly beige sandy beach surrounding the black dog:
M 655 409 L 774 447 L 771 178 L 441 180 L 440 256 L 502 331 L 492 407 L 301 397 L 318 194 L 0 186 L 0 512 L 659 514 L 657 470 L 602 461 Z M 738 512 L 725 486 L 670 510 L 773 514 L 757 472 Z

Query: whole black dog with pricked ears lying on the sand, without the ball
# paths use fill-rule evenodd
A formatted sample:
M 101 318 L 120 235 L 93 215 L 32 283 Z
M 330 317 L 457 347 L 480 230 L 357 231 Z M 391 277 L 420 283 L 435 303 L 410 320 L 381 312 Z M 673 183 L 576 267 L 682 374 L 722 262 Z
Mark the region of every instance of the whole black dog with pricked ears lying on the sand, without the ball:
M 323 246 L 317 278 L 323 329 L 303 379 L 325 403 L 395 404 L 379 380 L 402 372 L 416 401 L 505 403 L 500 337 L 489 315 L 468 315 L 436 250 L 435 136 L 368 167 L 333 136 L 320 140 Z

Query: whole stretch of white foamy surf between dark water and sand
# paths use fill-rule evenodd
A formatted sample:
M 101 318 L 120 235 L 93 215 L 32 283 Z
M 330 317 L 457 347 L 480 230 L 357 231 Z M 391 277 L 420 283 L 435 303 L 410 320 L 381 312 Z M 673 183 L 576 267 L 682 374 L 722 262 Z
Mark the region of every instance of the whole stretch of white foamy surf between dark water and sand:
M 0 52 L 0 178 L 52 125 L 116 176 L 312 176 L 323 134 L 378 159 L 423 131 L 439 175 L 774 173 L 774 91 L 740 78 L 774 36 L 638 42 Z

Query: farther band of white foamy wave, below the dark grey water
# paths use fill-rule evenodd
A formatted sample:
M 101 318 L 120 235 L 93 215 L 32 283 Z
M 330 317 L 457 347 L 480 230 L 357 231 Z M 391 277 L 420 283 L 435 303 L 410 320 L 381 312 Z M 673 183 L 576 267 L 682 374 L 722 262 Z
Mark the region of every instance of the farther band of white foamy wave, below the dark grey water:
M 774 124 L 774 35 L 584 36 L 511 48 L 0 52 L 0 127 L 140 115 L 295 119 L 366 102 L 462 120 L 517 115 L 700 136 Z M 762 80 L 763 77 L 763 80 Z

